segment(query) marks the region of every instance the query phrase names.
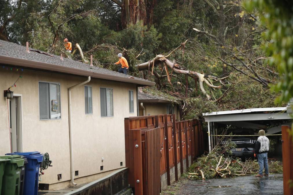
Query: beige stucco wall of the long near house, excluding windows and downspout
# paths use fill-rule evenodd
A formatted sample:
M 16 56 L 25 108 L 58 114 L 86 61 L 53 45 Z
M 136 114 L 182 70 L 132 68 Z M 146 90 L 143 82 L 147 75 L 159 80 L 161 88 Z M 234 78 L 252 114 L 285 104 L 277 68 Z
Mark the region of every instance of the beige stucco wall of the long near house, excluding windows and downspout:
M 22 78 L 12 88 L 22 95 L 23 151 L 48 152 L 53 167 L 45 170 L 42 182 L 54 184 L 70 180 L 68 88 L 86 81 L 86 77 L 45 71 L 0 69 L 1 90 L 11 86 L 19 75 Z M 61 119 L 42 120 L 39 117 L 38 82 L 60 83 Z M 136 86 L 92 78 L 93 114 L 85 114 L 84 86 L 71 90 L 72 141 L 76 178 L 114 170 L 125 166 L 124 118 L 137 116 Z M 113 117 L 100 116 L 100 87 L 113 88 Z M 128 90 L 134 91 L 134 113 L 129 113 Z M 8 101 L 9 103 L 9 101 Z M 9 107 L 9 105 L 8 105 Z M 0 155 L 10 152 L 7 100 L 0 97 Z M 102 162 L 102 157 L 104 161 Z M 123 166 L 120 166 L 120 162 Z M 103 171 L 100 166 L 103 165 Z M 58 181 L 57 174 L 62 174 Z

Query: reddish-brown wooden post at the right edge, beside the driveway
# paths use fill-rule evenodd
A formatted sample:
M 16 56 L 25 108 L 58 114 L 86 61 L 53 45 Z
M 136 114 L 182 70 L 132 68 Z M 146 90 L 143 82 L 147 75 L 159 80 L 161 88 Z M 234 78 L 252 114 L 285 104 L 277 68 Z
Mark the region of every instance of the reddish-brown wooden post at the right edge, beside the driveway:
M 289 135 L 289 126 L 282 126 L 282 157 L 283 157 L 283 187 L 284 194 L 292 195 L 293 194 L 293 143 L 292 137 Z

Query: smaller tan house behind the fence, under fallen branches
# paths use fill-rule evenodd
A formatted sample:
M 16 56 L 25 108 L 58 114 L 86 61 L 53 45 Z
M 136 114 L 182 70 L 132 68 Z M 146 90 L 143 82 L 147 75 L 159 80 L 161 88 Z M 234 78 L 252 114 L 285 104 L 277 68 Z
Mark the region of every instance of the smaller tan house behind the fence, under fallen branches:
M 138 104 L 139 116 L 175 114 L 176 119 L 180 120 L 179 108 L 176 101 L 139 91 Z

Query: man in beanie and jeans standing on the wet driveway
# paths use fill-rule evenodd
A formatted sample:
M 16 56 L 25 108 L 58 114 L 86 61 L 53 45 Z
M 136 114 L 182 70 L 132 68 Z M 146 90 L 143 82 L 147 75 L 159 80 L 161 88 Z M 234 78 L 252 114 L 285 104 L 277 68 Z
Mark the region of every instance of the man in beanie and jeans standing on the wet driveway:
M 259 137 L 255 143 L 254 151 L 257 154 L 259 172 L 255 177 L 269 176 L 269 165 L 268 165 L 268 151 L 270 148 L 270 140 L 265 136 L 265 131 L 258 131 Z M 263 174 L 263 166 L 265 166 L 265 174 Z

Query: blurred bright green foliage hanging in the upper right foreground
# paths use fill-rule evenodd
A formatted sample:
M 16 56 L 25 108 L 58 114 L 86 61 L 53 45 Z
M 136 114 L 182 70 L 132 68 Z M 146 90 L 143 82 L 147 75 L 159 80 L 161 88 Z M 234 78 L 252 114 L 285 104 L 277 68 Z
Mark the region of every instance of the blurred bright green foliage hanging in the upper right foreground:
M 268 40 L 264 49 L 269 66 L 277 64 L 283 76 L 277 85 L 272 86 L 275 92 L 281 92 L 276 102 L 288 102 L 293 97 L 293 15 L 292 1 L 253 0 L 246 1 L 245 7 L 252 12 L 260 12 L 259 25 L 267 28 L 264 37 Z

